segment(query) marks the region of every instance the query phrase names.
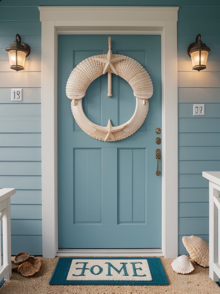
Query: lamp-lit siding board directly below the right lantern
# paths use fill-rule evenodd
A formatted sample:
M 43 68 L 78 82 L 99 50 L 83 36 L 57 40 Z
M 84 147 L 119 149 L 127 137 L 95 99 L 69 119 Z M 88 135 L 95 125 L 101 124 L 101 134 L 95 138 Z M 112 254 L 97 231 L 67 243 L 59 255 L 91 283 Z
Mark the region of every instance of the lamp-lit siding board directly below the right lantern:
M 218 88 L 220 85 L 219 71 L 179 71 L 178 87 Z

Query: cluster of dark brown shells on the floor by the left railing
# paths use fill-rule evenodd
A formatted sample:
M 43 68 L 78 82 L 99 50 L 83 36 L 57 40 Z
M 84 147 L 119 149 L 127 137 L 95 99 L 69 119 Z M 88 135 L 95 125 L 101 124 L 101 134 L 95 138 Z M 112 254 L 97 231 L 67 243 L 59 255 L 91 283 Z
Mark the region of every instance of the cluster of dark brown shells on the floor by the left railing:
M 20 252 L 15 257 L 11 258 L 11 269 L 26 277 L 37 273 L 40 270 L 40 266 L 40 258 L 34 258 L 26 252 Z

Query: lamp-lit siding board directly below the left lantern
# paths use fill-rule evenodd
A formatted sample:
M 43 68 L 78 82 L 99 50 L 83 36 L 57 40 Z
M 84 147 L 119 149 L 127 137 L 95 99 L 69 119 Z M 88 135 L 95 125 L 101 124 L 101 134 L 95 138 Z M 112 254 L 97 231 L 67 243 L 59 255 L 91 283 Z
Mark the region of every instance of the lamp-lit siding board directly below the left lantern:
M 0 88 L 41 87 L 40 72 L 0 72 Z

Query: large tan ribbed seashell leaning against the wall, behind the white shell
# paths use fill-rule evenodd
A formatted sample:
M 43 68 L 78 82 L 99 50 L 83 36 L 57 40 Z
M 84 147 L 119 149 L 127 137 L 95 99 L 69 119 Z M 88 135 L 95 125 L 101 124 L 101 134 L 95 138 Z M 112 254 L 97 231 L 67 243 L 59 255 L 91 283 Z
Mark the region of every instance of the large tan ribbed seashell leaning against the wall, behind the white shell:
M 182 242 L 192 260 L 204 267 L 209 266 L 209 243 L 194 235 L 182 237 Z

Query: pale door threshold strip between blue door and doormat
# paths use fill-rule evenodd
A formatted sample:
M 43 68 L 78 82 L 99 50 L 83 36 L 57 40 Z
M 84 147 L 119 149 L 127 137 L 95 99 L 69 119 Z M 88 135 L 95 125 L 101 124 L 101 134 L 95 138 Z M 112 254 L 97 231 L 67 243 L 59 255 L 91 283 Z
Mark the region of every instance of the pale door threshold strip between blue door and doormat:
M 161 248 L 150 249 L 58 249 L 56 256 L 163 256 Z

